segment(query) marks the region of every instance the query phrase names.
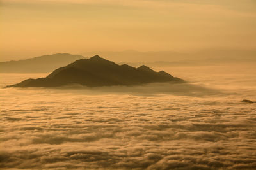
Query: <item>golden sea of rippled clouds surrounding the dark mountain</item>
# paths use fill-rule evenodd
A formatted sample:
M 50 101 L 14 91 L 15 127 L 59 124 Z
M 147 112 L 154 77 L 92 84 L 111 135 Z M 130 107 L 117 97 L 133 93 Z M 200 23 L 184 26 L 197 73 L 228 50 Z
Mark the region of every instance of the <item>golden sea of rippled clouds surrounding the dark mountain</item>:
M 0 168 L 256 169 L 256 104 L 241 103 L 255 99 L 255 82 L 246 79 L 226 90 L 217 87 L 235 78 L 212 88 L 0 89 Z

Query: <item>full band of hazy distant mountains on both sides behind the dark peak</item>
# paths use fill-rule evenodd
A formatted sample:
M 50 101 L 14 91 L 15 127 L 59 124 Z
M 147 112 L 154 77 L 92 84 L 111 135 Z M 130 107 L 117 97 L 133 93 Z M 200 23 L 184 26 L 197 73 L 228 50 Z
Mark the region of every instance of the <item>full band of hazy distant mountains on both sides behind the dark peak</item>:
M 198 52 L 137 52 L 127 50 L 121 52 L 86 52 L 82 55 L 57 53 L 42 55 L 31 59 L 0 62 L 0 73 L 49 73 L 61 66 L 67 66 L 78 59 L 89 58 L 100 54 L 105 59 L 115 60 L 118 64 L 129 64 L 138 67 L 146 64 L 150 67 L 176 66 L 209 66 L 223 63 L 255 63 L 256 50 L 209 49 Z

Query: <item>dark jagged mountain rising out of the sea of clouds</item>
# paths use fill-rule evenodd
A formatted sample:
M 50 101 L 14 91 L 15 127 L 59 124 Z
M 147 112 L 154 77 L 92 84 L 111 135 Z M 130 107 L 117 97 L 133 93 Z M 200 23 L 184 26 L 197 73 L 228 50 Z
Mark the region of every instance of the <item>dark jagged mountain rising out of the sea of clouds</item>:
M 8 87 L 57 87 L 69 84 L 80 84 L 88 87 L 109 85 L 139 85 L 174 81 L 184 82 L 164 71 L 153 71 L 147 66 L 138 68 L 115 62 L 95 55 L 90 59 L 80 59 L 60 67 L 45 78 L 28 79 Z

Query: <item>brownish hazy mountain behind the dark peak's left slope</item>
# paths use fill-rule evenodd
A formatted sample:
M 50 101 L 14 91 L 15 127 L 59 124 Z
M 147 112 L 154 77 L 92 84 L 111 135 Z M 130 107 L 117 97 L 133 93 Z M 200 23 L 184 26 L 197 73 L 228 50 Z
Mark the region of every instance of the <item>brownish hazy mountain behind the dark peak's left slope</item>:
M 0 73 L 47 73 L 78 59 L 84 59 L 84 57 L 69 53 L 56 53 L 25 60 L 0 62 Z

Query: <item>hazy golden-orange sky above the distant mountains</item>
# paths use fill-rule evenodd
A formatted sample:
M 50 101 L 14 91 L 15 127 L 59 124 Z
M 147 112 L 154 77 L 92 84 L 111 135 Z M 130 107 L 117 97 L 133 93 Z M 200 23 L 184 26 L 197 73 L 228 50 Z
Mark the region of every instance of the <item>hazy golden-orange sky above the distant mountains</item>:
M 255 0 L 0 0 L 0 60 L 256 48 Z

